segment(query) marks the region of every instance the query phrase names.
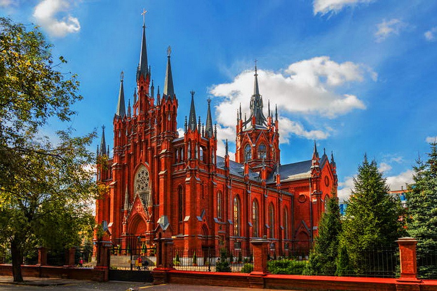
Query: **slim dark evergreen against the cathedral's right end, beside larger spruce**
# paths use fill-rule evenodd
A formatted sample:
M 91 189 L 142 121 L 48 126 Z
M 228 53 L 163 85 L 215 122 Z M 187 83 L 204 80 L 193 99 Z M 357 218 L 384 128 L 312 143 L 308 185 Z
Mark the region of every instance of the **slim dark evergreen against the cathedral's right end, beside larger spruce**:
M 340 208 L 338 199 L 332 197 L 319 222 L 319 235 L 315 238 L 304 275 L 334 275 L 338 242 L 341 232 Z

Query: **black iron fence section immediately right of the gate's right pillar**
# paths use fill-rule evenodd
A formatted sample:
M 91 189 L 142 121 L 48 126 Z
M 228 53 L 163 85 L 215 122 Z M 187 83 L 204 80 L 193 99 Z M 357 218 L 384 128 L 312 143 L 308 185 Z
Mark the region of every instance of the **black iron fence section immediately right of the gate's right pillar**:
M 173 267 L 181 271 L 241 272 L 253 270 L 253 251 L 216 248 L 173 249 Z

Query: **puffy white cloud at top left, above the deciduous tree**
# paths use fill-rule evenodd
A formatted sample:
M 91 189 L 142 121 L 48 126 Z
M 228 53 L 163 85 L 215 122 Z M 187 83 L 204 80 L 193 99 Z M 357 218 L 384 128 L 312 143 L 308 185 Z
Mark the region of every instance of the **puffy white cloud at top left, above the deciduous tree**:
M 64 37 L 67 33 L 79 32 L 81 25 L 76 17 L 65 12 L 70 7 L 67 0 L 42 0 L 35 6 L 34 17 L 36 22 L 47 32 L 56 37 Z M 65 14 L 58 19 L 60 13 Z

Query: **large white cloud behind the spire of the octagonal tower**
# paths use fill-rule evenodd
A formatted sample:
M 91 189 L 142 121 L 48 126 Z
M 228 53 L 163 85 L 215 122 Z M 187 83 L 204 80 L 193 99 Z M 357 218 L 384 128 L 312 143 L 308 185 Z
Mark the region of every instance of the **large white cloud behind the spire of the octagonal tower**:
M 350 82 L 361 82 L 366 76 L 372 80 L 377 77 L 369 67 L 352 62 L 336 63 L 327 56 L 315 57 L 289 65 L 283 72 L 258 70 L 261 93 L 265 93 L 264 112 L 267 116 L 267 101 L 278 105 L 279 113 L 311 113 L 335 118 L 354 109 L 366 109 L 363 101 L 352 94 L 339 94 L 336 90 Z M 241 103 L 243 113 L 250 113 L 250 97 L 253 94 L 253 72 L 243 71 L 230 83 L 214 85 L 210 93 L 220 98 L 215 106 L 216 117 L 223 127 L 235 130 L 236 109 Z M 244 118 L 244 115 L 243 115 Z M 286 126 L 281 122 L 287 123 Z M 321 130 L 305 130 L 299 123 L 282 119 L 279 129 L 304 138 L 327 138 L 328 133 Z M 287 128 L 291 127 L 291 129 Z M 283 131 L 286 130 L 286 131 Z M 235 133 L 235 131 L 233 131 Z

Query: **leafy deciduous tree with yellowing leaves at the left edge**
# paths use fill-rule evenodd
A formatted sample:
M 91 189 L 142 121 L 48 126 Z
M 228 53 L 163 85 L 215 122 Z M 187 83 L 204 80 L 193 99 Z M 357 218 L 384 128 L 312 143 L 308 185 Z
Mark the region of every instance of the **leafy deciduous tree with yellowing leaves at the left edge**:
M 82 99 L 75 75 L 60 71 L 38 28 L 0 17 L 0 242 L 12 254 L 14 281 L 23 257 L 36 244 L 79 244 L 91 231 L 88 203 L 96 194 L 95 161 L 88 152 L 95 133 L 59 143 L 38 137 L 50 117 L 68 121 Z

